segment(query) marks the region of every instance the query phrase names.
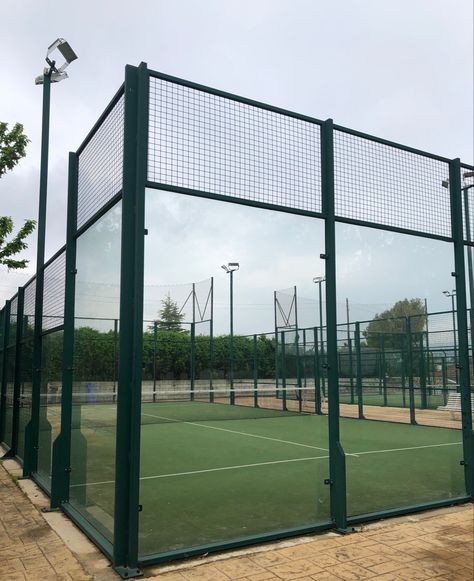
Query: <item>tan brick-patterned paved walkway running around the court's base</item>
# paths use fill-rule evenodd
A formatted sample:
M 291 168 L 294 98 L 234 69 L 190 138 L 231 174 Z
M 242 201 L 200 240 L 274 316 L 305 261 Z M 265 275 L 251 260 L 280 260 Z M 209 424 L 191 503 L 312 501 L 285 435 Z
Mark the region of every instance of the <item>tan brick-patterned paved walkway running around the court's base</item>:
M 7 472 L 8 470 L 8 472 Z M 45 495 L 0 466 L 2 581 L 117 581 L 108 561 Z M 20 488 L 21 487 L 21 488 Z M 389 519 L 351 535 L 326 533 L 151 567 L 157 581 L 472 581 L 473 505 Z

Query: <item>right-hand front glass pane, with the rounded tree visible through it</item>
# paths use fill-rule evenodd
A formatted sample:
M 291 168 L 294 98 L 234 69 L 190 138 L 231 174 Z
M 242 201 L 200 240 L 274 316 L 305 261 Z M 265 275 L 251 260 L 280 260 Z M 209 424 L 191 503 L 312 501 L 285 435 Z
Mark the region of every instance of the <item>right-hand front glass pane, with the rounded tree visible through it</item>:
M 349 312 L 349 333 L 360 330 L 353 405 L 340 384 L 348 514 L 463 496 L 460 422 L 446 409 L 457 392 L 444 294 L 452 245 L 349 225 L 336 233 L 339 323 Z

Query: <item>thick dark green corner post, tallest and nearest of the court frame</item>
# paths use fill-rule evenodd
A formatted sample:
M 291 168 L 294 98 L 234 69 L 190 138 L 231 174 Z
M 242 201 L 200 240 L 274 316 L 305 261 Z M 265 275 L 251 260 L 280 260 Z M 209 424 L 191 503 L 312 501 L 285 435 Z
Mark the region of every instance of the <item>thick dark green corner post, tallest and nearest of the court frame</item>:
M 113 551 L 114 568 L 122 577 L 140 574 L 137 565 L 148 101 L 146 64 L 141 63 L 138 68 L 127 65 Z

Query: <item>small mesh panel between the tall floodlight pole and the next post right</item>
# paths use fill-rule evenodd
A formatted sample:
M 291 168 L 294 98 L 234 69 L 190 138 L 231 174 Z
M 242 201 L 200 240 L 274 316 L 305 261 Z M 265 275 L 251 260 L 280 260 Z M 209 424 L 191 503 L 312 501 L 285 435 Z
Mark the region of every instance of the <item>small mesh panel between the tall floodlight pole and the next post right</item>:
M 62 252 L 44 271 L 43 331 L 64 322 L 66 252 Z

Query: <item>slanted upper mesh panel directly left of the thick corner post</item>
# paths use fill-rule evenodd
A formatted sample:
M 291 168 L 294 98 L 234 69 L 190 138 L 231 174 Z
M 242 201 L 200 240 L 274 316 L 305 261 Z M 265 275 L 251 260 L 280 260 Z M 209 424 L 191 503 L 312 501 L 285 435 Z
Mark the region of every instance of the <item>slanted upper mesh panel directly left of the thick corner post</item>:
M 122 96 L 79 155 L 78 228 L 122 189 L 123 133 Z

